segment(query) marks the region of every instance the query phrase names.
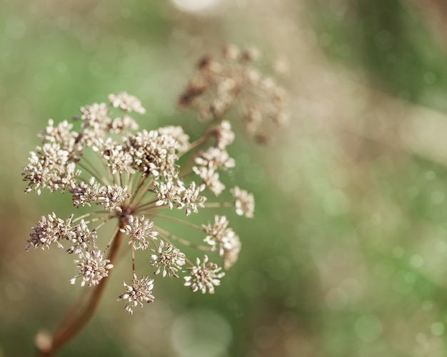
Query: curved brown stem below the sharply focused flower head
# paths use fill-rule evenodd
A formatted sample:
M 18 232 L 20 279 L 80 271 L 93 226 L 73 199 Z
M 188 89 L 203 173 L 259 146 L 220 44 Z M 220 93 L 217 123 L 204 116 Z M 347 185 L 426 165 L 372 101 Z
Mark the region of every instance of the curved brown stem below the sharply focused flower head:
M 109 256 L 107 259 L 113 264 L 116 254 L 119 251 L 119 247 L 122 242 L 122 233 L 119 228 L 116 229 L 114 233 L 114 242 L 110 247 Z M 110 273 L 109 273 L 110 276 Z M 59 350 L 62 346 L 68 343 L 71 338 L 74 338 L 76 333 L 79 333 L 84 326 L 90 321 L 94 316 L 96 308 L 99 306 L 99 301 L 101 301 L 101 296 L 106 288 L 107 281 L 109 281 L 109 276 L 104 277 L 99 281 L 99 284 L 94 286 L 94 290 L 91 292 L 89 299 L 87 301 L 77 301 L 66 314 L 66 317 L 62 320 L 62 323 L 56 328 L 53 336 L 51 336 L 51 341 L 48 346 L 39 346 L 36 343 L 38 357 L 50 357 L 54 356 L 54 353 Z

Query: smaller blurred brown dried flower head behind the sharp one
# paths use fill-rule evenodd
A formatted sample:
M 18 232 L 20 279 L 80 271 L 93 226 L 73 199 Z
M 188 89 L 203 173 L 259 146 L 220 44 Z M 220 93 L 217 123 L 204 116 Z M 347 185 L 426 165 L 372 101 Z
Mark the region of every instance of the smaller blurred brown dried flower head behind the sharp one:
M 260 143 L 271 139 L 271 124 L 288 121 L 288 94 L 271 76 L 263 76 L 253 64 L 261 56 L 257 48 L 222 48 L 216 56 L 204 56 L 179 98 L 183 108 L 195 108 L 201 120 L 222 118 L 234 108 L 246 133 Z

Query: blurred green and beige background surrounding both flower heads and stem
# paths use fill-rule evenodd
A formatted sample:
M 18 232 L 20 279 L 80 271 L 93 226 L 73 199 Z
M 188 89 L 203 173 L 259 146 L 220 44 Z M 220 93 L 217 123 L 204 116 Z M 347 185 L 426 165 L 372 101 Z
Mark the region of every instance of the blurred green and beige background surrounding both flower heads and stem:
M 24 250 L 72 210 L 24 194 L 36 132 L 126 90 L 141 127 L 194 133 L 176 98 L 228 42 L 286 59 L 292 98 L 275 143 L 231 148 L 256 195 L 239 262 L 214 296 L 156 279 L 134 316 L 118 272 L 60 356 L 447 356 L 446 33 L 443 0 L 2 1 L 0 356 L 32 356 L 81 289 L 66 254 Z

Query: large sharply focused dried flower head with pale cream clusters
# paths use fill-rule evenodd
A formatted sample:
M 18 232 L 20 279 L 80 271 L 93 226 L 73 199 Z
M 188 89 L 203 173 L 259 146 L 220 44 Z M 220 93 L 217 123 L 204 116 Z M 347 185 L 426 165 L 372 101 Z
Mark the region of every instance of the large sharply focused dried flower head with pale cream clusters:
M 127 242 L 130 283 L 124 282 L 117 300 L 126 300 L 129 314 L 154 301 L 149 274 L 183 276 L 191 291 L 214 293 L 225 273 L 209 262 L 209 254 L 220 256 L 228 269 L 236 262 L 241 242 L 225 216 L 216 215 L 214 223 L 202 225 L 189 218 L 202 209 L 231 206 L 237 214 L 253 217 L 254 209 L 253 196 L 238 187 L 230 190 L 233 200 L 219 200 L 226 190 L 219 175 L 236 165 L 226 151 L 234 138 L 228 121 L 190 143 L 180 127 L 137 131 L 134 113 L 145 113 L 140 100 L 119 93 L 109 95 L 109 103 L 82 107 L 72 123 L 49 120 L 23 173 L 26 192 L 68 192 L 76 209 L 91 207 L 79 217 L 61 218 L 54 212 L 41 217 L 32 227 L 26 250 L 53 245 L 64 249 L 75 256 L 78 269 L 71 284 L 98 286 L 116 264 L 120 243 Z M 186 156 L 189 160 L 183 160 Z M 176 209 L 184 211 L 184 219 L 176 217 Z M 101 229 L 110 222 L 116 229 L 113 237 L 106 237 Z M 195 229 L 199 242 L 171 234 L 176 224 L 190 232 Z M 200 255 L 186 257 L 181 251 L 185 245 L 200 249 Z M 136 254 L 146 254 L 147 263 L 136 267 Z

